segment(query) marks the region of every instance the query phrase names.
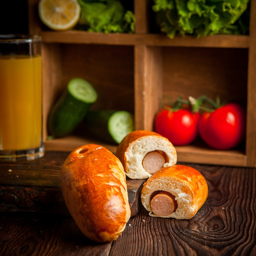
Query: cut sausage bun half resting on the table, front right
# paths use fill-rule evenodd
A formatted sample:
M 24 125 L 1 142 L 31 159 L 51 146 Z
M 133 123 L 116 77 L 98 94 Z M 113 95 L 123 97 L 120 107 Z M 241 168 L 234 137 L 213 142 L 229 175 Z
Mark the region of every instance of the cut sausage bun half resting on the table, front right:
M 208 196 L 204 176 L 190 166 L 162 168 L 144 183 L 141 203 L 149 216 L 191 219 Z

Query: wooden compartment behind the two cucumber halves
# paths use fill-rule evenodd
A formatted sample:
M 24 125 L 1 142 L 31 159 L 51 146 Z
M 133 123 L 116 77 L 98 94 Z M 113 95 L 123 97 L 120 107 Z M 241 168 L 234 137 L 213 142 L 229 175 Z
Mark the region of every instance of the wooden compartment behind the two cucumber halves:
M 79 136 L 47 139 L 48 113 L 70 79 L 81 77 L 92 83 L 98 92 L 98 99 L 92 108 L 127 110 L 134 113 L 133 74 L 131 46 L 45 44 L 43 48 L 43 126 L 46 148 L 72 150 L 81 145 L 80 141 L 88 143 L 82 125 L 74 132 L 76 135 L 79 133 Z

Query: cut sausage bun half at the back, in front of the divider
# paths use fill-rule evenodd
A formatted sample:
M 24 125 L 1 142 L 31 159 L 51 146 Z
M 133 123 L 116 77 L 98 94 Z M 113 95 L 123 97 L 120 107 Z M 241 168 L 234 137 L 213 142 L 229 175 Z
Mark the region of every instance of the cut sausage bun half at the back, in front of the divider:
M 131 179 L 148 178 L 159 169 L 177 162 L 171 141 L 147 130 L 135 130 L 126 135 L 117 146 L 116 156 Z

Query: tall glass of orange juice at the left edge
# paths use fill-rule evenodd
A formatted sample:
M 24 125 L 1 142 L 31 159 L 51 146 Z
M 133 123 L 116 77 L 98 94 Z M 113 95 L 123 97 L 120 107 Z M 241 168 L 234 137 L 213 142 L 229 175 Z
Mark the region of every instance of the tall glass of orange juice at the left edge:
M 40 36 L 0 35 L 0 161 L 44 155 Z

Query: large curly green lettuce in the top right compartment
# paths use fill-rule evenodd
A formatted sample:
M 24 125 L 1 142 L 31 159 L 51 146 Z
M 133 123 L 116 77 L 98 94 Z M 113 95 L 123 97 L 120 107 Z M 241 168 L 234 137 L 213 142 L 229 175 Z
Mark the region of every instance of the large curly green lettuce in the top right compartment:
M 248 20 L 239 21 L 249 0 L 154 0 L 153 11 L 161 31 L 196 37 L 248 32 Z M 248 16 L 248 13 L 247 13 Z

